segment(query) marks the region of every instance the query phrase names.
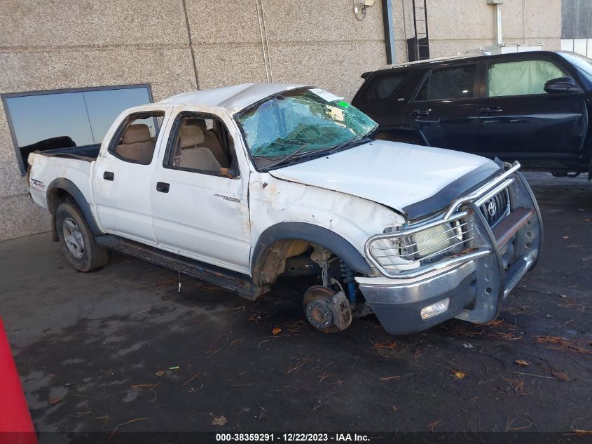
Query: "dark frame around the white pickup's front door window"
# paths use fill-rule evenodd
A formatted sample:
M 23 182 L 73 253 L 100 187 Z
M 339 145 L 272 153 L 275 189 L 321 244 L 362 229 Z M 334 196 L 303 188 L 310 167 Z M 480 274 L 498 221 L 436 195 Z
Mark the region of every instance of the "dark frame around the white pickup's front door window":
M 226 129 L 226 135 L 228 137 L 228 155 L 230 156 L 230 154 L 231 154 L 230 150 L 234 150 L 234 152 L 233 152 L 234 159 L 235 159 L 234 165 L 236 166 L 235 174 L 233 174 L 230 177 L 230 176 L 223 175 L 221 173 L 216 173 L 216 172 L 210 171 L 210 170 L 198 170 L 195 168 L 174 166 L 172 164 L 173 157 L 174 157 L 174 150 L 176 149 L 176 147 L 174 147 L 174 144 L 177 142 L 177 139 L 179 138 L 179 132 L 181 131 L 181 122 L 183 121 L 183 119 L 185 119 L 188 116 L 191 116 L 195 119 L 214 120 L 224 126 L 224 128 Z M 226 125 L 226 123 L 224 123 L 224 121 L 219 116 L 216 116 L 216 114 L 210 114 L 207 112 L 184 110 L 184 111 L 180 111 L 177 114 L 177 116 L 174 117 L 174 120 L 172 121 L 172 125 L 170 128 L 171 129 L 170 129 L 170 133 L 169 133 L 169 138 L 167 140 L 167 147 L 165 149 L 165 155 L 163 156 L 163 168 L 166 168 L 167 170 L 179 170 L 179 171 L 186 171 L 187 173 L 198 173 L 198 174 L 205 174 L 205 175 L 214 176 L 214 177 L 223 177 L 225 179 L 230 179 L 230 180 L 240 179 L 240 166 L 238 164 L 239 162 L 238 162 L 238 155 L 236 152 L 236 143 L 235 143 L 232 135 L 230 134 L 230 130 L 228 129 L 228 125 Z M 231 159 L 228 159 L 228 160 L 230 160 L 230 166 L 233 166 L 232 160 Z M 227 169 L 229 172 L 232 171 L 231 168 L 227 168 Z

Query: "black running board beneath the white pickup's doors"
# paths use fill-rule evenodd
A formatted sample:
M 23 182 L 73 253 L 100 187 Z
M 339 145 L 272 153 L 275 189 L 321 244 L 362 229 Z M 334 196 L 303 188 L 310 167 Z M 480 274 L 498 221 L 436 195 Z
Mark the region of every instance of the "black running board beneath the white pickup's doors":
M 137 257 L 159 267 L 179 271 L 200 281 L 218 285 L 250 300 L 254 300 L 268 290 L 267 288 L 254 285 L 251 278 L 246 274 L 205 264 L 204 262 L 175 255 L 174 253 L 168 253 L 167 251 L 114 236 L 113 234 L 96 236 L 95 241 L 99 245 L 111 248 L 111 250 L 117 250 L 125 255 Z

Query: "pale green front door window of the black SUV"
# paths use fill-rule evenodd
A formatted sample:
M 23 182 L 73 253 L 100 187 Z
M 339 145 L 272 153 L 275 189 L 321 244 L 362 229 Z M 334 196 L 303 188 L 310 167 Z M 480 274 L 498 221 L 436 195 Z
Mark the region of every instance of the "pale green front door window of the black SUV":
M 487 69 L 487 95 L 544 94 L 546 81 L 566 75 L 548 60 L 490 63 Z

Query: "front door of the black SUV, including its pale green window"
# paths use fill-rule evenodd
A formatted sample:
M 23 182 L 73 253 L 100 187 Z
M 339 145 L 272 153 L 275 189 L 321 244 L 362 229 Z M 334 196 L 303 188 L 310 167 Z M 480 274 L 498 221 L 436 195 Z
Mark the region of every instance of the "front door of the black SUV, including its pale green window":
M 551 58 L 489 61 L 476 154 L 525 166 L 576 164 L 586 135 L 584 93 L 544 90 L 546 81 L 564 76 L 570 74 Z

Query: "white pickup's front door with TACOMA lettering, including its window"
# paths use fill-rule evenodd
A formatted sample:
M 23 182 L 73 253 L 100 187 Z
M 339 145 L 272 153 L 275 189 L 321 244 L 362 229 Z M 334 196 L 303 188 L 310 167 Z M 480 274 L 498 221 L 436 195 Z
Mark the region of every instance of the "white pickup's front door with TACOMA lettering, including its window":
M 250 273 L 249 170 L 230 119 L 181 111 L 152 177 L 154 236 L 167 250 Z M 243 158 L 241 158 L 243 159 Z

